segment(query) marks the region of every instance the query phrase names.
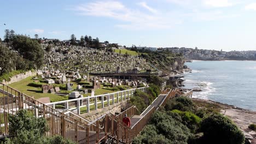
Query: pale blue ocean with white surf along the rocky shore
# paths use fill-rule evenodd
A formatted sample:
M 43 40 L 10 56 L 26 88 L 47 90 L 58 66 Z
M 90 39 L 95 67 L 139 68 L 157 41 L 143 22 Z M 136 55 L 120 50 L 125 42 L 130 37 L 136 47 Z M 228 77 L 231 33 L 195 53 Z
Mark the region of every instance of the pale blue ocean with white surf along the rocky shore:
M 256 111 L 256 61 L 193 61 L 185 63 L 185 87 L 200 87 L 193 98 L 209 99 Z

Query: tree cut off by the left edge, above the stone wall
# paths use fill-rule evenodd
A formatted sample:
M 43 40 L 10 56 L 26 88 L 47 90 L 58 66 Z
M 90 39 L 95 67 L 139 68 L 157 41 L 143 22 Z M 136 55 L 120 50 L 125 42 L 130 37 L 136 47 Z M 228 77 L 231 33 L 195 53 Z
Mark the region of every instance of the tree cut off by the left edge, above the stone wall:
M 15 69 L 17 54 L 3 44 L 0 44 L 0 53 L 0 75 L 10 73 Z

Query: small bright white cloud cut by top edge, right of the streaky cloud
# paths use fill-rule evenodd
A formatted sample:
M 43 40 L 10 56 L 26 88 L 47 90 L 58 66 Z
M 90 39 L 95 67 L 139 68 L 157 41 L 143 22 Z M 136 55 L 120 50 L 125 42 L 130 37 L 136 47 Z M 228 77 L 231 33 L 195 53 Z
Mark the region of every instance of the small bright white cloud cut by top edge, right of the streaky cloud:
M 229 0 L 203 0 L 203 4 L 209 7 L 231 7 L 235 3 L 230 2 Z

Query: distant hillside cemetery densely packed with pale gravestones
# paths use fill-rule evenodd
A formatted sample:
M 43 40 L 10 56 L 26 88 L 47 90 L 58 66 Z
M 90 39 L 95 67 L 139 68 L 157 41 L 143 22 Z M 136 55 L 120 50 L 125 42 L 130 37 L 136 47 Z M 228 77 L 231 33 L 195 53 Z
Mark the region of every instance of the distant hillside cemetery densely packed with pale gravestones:
M 48 44 L 42 44 L 44 49 Z M 82 46 L 52 46 L 44 54 L 43 70 L 77 71 L 86 73 L 111 73 L 120 67 L 120 71 L 155 70 L 146 59 L 138 55 L 123 55 L 107 50 L 96 50 Z

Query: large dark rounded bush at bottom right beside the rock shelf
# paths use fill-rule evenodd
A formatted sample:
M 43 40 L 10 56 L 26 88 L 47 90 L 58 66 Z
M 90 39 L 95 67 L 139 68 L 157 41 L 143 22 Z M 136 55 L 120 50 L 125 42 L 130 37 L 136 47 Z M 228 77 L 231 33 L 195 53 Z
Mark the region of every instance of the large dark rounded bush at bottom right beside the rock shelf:
M 229 118 L 221 114 L 203 118 L 201 130 L 205 143 L 245 143 L 242 131 Z

